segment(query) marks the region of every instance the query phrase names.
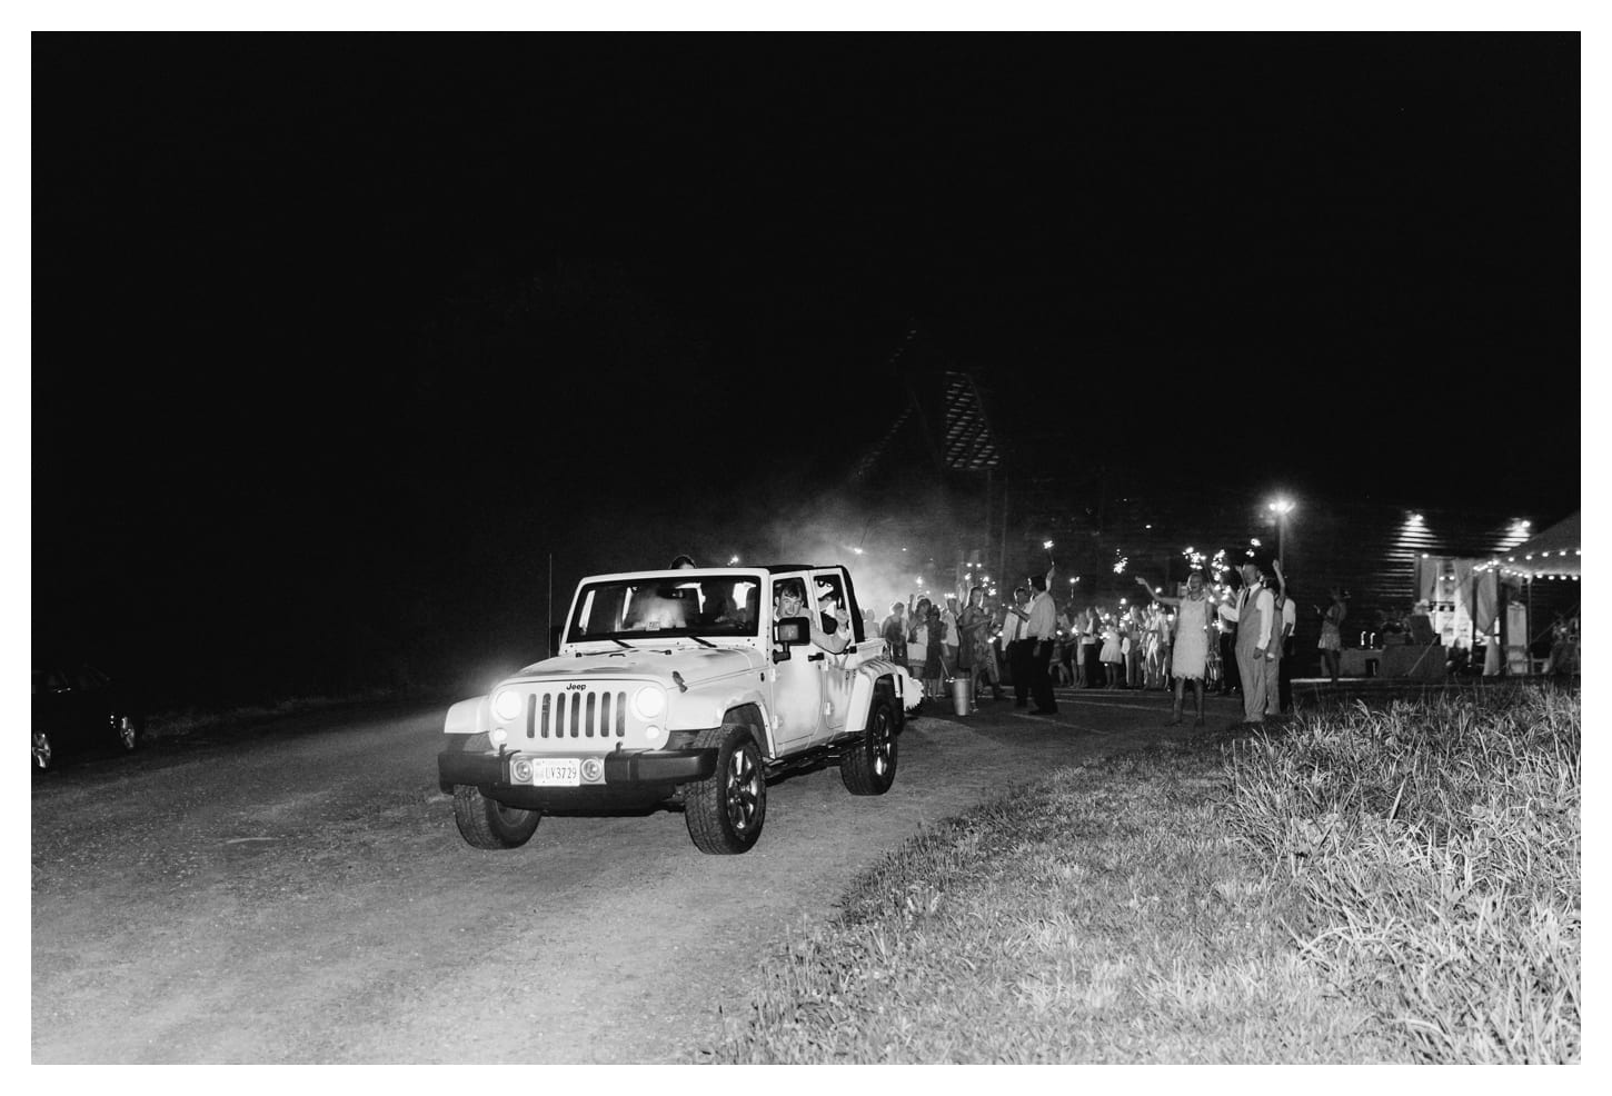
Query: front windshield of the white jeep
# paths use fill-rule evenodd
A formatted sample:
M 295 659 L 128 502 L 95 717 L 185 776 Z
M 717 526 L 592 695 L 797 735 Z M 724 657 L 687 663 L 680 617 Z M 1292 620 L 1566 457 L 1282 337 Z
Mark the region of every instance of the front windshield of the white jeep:
M 759 595 L 756 575 L 590 582 L 577 596 L 566 643 L 754 637 Z

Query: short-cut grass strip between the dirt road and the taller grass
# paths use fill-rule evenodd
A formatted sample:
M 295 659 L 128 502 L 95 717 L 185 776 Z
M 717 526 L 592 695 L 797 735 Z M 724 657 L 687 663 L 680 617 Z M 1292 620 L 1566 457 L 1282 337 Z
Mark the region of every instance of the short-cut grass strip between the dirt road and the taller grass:
M 1161 746 L 925 830 L 692 1061 L 1406 1061 L 1296 961 L 1225 787 L 1215 749 Z

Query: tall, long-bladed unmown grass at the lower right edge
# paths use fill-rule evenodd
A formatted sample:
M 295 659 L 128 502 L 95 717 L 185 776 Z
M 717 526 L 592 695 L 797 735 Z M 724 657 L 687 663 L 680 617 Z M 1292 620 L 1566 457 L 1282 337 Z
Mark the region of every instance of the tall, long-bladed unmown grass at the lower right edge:
M 1577 693 L 1357 704 L 1240 743 L 1227 822 L 1419 1059 L 1578 1061 L 1578 751 Z

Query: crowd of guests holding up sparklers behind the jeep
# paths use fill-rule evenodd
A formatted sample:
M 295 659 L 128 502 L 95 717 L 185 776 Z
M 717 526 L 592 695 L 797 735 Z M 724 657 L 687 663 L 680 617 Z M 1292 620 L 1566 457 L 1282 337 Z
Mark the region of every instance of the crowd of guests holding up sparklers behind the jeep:
M 1211 585 L 1193 571 L 1178 596 L 1138 577 L 1146 596 L 1112 604 L 1054 598 L 1054 572 L 1032 575 L 1006 598 L 975 585 L 961 601 L 949 593 L 943 601 L 895 601 L 883 619 L 867 611 L 867 632 L 885 638 L 891 658 L 924 680 L 930 696 L 964 679 L 978 700 L 1006 700 L 1003 685 L 1011 685 L 1016 706 L 1033 700 L 1032 714 L 1057 711 L 1054 683 L 1172 693 L 1172 724 L 1183 719 L 1188 690 L 1198 724 L 1211 691 L 1243 696 L 1248 722 L 1291 711 L 1285 656 L 1293 654 L 1298 604 L 1280 563 L 1249 559 L 1235 588 Z M 1328 606 L 1314 606 L 1333 683 L 1346 596 L 1333 590 Z

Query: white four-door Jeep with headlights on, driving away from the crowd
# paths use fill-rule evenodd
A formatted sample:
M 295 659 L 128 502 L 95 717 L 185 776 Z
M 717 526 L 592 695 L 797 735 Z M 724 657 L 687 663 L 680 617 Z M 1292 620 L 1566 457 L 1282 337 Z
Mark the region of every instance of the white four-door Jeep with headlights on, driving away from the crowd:
M 883 795 L 922 683 L 862 632 L 838 566 L 584 579 L 555 658 L 448 709 L 437 774 L 459 833 L 508 849 L 545 811 L 680 803 L 695 846 L 745 853 L 783 769 L 833 759 L 851 795 Z

